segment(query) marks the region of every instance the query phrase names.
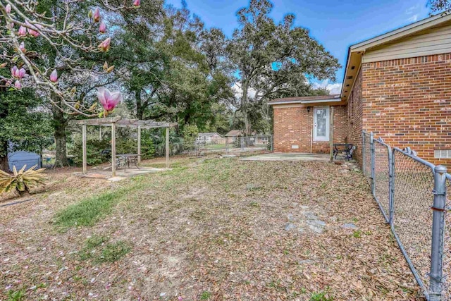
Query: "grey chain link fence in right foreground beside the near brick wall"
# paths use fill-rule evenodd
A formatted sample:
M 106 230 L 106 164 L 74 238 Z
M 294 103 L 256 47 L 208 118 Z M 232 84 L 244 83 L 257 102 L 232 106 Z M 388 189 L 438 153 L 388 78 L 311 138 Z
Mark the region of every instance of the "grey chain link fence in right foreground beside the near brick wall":
M 445 207 L 450 174 L 409 147 L 392 148 L 372 133 L 363 132 L 362 142 L 363 172 L 417 283 L 427 300 L 450 300 L 451 229 Z

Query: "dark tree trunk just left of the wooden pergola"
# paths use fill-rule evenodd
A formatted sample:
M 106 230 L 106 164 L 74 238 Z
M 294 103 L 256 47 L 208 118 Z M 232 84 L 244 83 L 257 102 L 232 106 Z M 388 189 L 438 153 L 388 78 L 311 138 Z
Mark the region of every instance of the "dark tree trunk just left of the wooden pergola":
M 64 117 L 64 113 L 61 112 L 55 106 L 52 108 L 54 117 L 54 137 L 56 143 L 56 158 L 55 167 L 69 166 L 67 148 L 66 148 L 66 128 L 68 121 Z

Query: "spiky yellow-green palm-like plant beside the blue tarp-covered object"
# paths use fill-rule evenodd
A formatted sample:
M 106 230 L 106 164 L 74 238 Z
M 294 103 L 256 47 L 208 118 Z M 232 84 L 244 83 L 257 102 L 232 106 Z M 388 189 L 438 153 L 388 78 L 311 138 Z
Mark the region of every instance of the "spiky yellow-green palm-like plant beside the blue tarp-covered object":
M 17 171 L 16 166 L 13 166 L 13 174 L 0 170 L 0 192 L 16 190 L 19 195 L 23 195 L 25 191 L 30 192 L 31 188 L 44 184 L 42 171 L 45 168 L 35 170 L 36 166 L 32 166 L 27 171 L 25 171 L 26 164 L 19 171 Z

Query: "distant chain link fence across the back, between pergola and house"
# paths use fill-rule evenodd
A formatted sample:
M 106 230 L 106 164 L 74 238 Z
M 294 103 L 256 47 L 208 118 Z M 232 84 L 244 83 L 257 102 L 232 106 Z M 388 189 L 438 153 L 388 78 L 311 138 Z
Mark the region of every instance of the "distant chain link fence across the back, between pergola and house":
M 199 136 L 194 142 L 197 155 L 240 154 L 245 152 L 272 152 L 273 139 L 269 135 L 207 137 Z

